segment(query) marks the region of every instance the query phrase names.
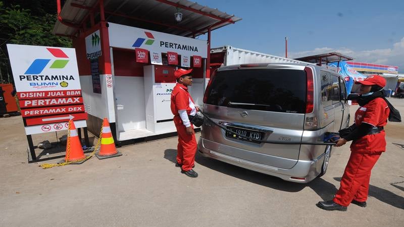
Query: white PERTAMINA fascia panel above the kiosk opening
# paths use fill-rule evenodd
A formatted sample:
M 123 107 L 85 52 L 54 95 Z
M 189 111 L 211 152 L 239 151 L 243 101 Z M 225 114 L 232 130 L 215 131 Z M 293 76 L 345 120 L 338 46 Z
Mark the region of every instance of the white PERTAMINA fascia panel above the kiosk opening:
M 110 46 L 119 48 L 143 48 L 157 52 L 176 52 L 179 55 L 198 55 L 207 58 L 206 40 L 108 23 Z

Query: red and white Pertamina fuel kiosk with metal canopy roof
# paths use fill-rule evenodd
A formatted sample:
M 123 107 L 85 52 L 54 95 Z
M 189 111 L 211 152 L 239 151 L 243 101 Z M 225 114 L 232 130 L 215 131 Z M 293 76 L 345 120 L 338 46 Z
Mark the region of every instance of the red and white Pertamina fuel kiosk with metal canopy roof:
M 73 40 L 88 130 L 97 135 L 108 118 L 117 145 L 176 132 L 169 106 L 173 72 L 193 68 L 190 93 L 201 105 L 211 31 L 241 20 L 187 0 L 57 3 L 54 33 Z M 208 40 L 195 38 L 205 33 Z

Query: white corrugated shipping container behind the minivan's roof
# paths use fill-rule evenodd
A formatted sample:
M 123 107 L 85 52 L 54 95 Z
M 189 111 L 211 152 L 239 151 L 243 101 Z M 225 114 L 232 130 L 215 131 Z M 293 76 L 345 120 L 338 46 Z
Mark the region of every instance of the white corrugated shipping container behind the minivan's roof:
M 282 58 L 267 53 L 260 53 L 256 51 L 235 48 L 233 46 L 222 46 L 211 48 L 211 55 L 215 53 L 225 52 L 224 66 L 249 64 L 249 63 L 298 63 L 310 64 L 307 62 L 296 61 L 293 59 Z

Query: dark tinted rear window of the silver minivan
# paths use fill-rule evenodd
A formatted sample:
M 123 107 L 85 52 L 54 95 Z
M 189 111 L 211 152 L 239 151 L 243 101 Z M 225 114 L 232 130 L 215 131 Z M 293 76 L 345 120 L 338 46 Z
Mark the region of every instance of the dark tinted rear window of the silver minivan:
M 306 73 L 302 70 L 246 69 L 216 72 L 206 104 L 275 112 L 306 111 Z

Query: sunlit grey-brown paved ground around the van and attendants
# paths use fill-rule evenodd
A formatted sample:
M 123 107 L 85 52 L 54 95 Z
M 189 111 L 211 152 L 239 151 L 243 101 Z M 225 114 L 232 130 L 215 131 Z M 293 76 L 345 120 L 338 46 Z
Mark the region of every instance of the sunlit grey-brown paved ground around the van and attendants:
M 404 117 L 404 99 L 389 100 Z M 176 137 L 42 169 L 43 161 L 28 163 L 20 116 L 0 118 L 0 129 L 0 226 L 404 226 L 404 148 L 393 144 L 404 144 L 403 123 L 385 127 L 387 151 L 373 168 L 368 206 L 345 212 L 315 204 L 339 188 L 349 144 L 333 148 L 325 176 L 297 184 L 199 154 L 199 177 L 189 178 L 174 166 Z M 55 133 L 33 138 L 56 141 Z

